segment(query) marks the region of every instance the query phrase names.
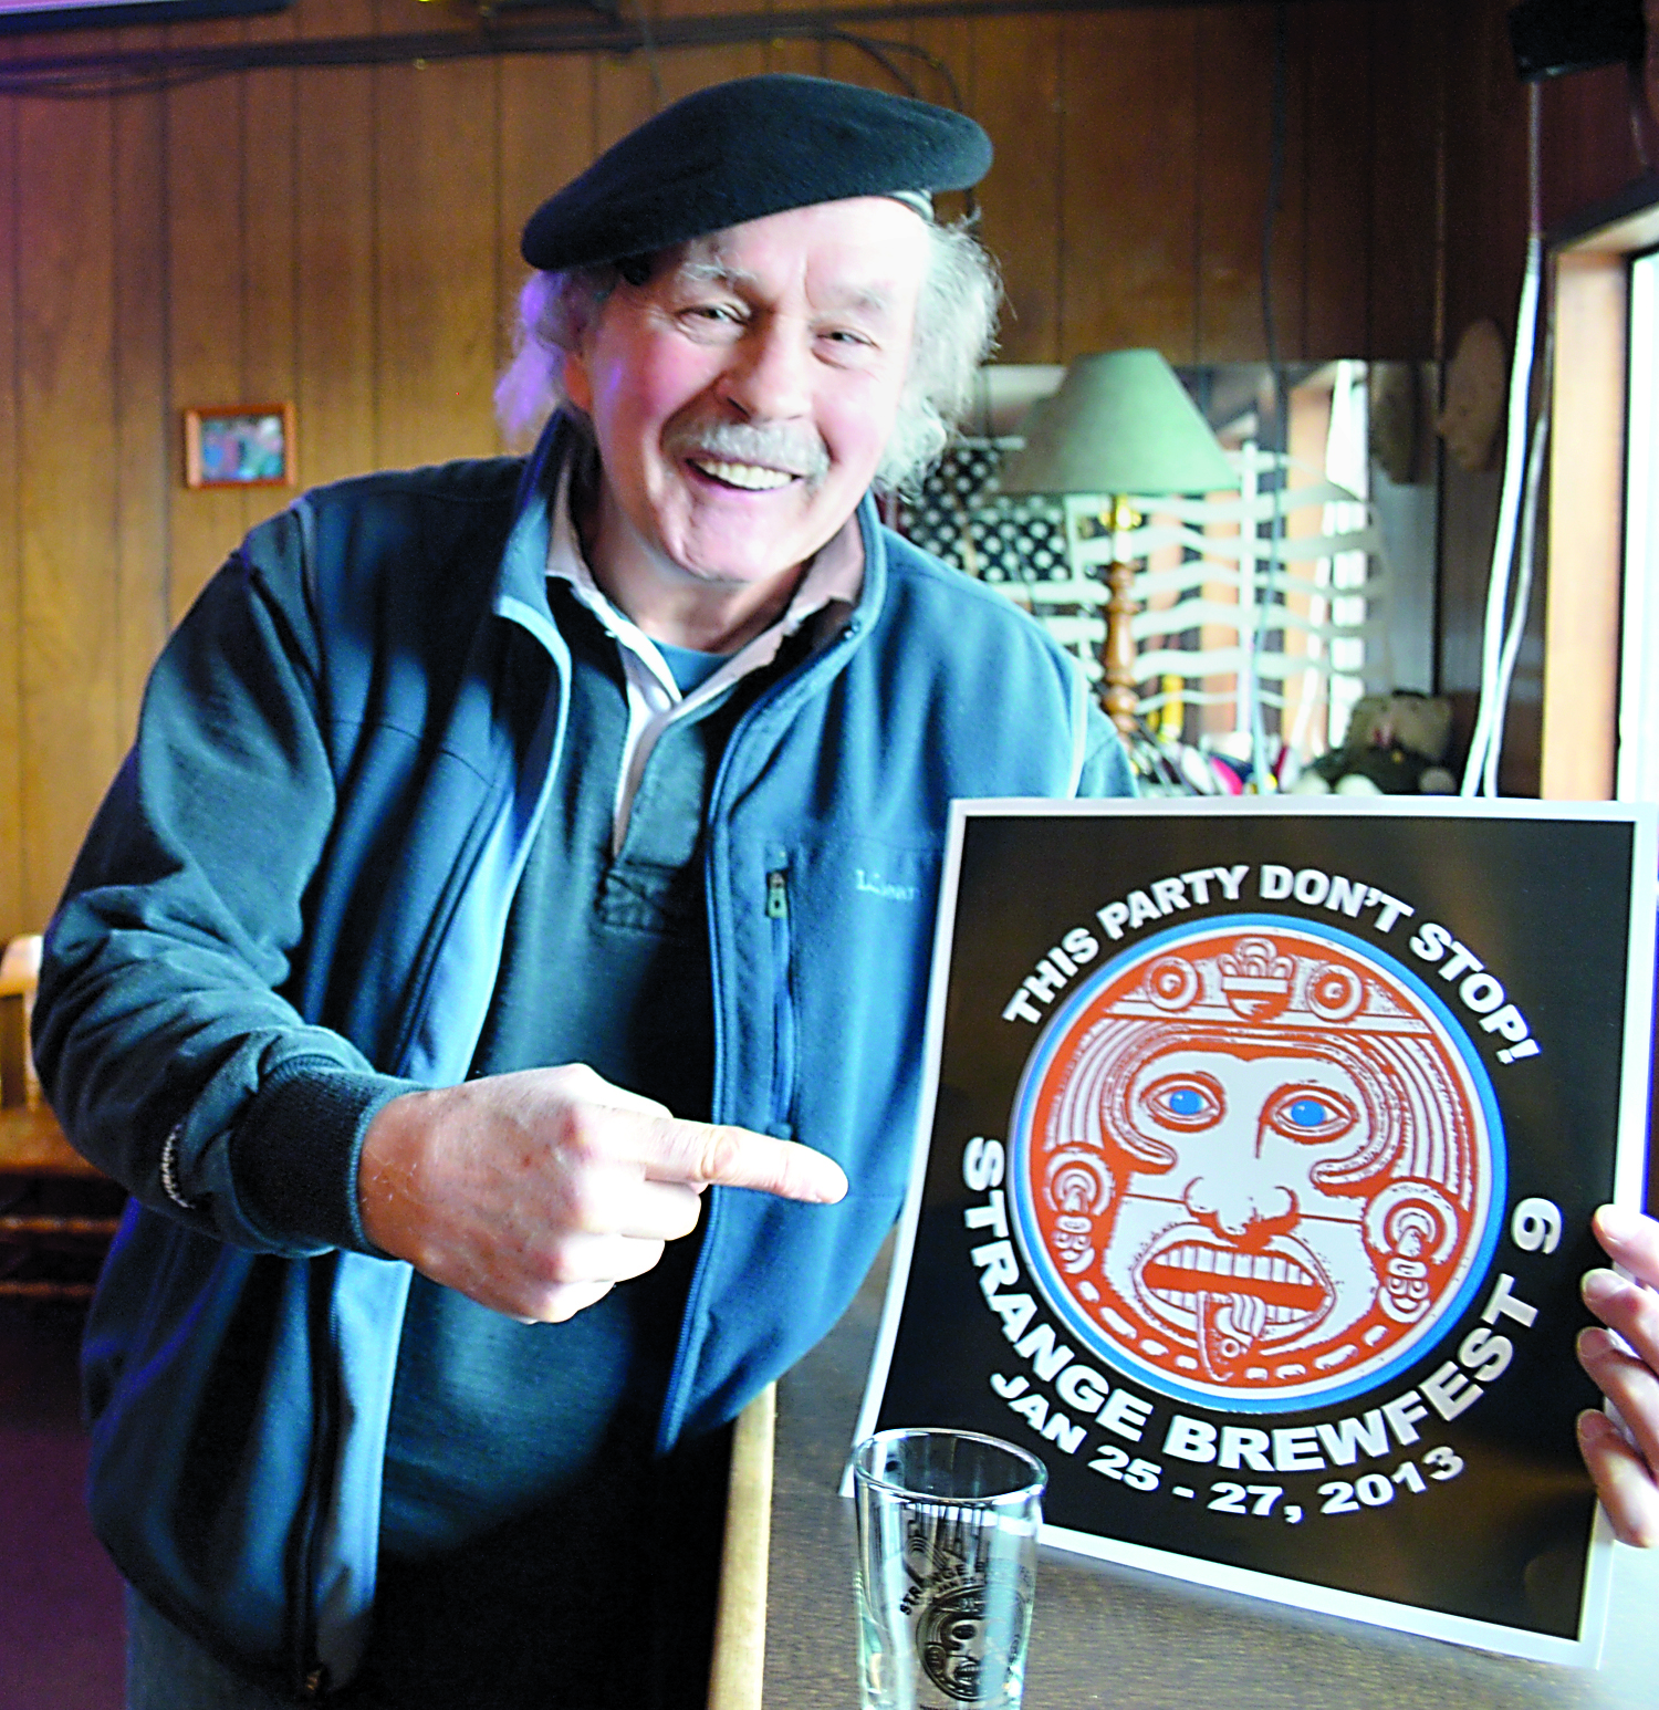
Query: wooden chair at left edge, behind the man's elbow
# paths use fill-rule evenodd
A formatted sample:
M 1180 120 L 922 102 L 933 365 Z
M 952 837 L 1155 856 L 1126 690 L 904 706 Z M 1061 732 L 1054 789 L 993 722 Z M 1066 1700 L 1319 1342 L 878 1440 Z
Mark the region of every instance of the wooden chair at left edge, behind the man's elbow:
M 41 1098 L 29 1052 L 39 968 L 34 934 L 0 954 L 0 1298 L 86 1300 L 121 1192 L 68 1144 Z

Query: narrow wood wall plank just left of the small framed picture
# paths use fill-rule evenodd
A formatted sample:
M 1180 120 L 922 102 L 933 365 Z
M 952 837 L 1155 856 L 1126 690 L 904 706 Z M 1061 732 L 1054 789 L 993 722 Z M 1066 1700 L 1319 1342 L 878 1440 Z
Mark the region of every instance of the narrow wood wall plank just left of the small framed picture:
M 151 48 L 159 31 L 123 31 Z M 144 681 L 168 633 L 168 248 L 162 97 L 116 101 L 115 385 L 116 385 L 116 746 L 132 740 Z

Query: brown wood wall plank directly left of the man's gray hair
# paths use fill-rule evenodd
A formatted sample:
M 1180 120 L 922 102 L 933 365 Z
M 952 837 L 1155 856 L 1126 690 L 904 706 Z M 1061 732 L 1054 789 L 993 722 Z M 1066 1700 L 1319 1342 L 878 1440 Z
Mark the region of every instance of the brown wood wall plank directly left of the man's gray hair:
M 496 67 L 381 67 L 376 87 L 376 457 L 496 445 Z

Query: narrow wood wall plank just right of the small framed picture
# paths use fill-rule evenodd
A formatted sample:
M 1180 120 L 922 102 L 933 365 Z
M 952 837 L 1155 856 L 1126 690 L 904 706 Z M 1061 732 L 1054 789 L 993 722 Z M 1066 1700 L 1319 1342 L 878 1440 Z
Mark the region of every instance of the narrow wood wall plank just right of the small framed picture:
M 366 36 L 373 0 L 304 0 L 301 34 Z M 375 74 L 298 79 L 296 374 L 299 481 L 375 467 Z

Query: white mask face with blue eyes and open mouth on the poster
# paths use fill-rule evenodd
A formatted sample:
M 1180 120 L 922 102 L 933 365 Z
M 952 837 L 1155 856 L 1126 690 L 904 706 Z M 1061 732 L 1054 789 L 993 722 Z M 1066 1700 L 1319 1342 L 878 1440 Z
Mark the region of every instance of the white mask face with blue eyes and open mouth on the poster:
M 1317 1166 L 1370 1142 L 1353 1076 L 1317 1055 L 1170 1050 L 1127 1089 L 1139 1163 L 1117 1206 L 1103 1276 L 1119 1300 L 1194 1346 L 1211 1378 L 1327 1341 L 1377 1300 L 1365 1199 Z

